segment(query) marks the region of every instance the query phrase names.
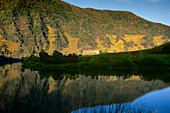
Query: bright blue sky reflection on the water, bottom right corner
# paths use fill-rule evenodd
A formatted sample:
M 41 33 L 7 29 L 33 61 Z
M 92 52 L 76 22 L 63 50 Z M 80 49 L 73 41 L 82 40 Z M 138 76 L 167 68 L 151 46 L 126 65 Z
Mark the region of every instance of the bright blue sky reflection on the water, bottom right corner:
M 148 93 L 131 103 L 82 108 L 72 113 L 126 113 L 156 112 L 170 113 L 170 87 Z

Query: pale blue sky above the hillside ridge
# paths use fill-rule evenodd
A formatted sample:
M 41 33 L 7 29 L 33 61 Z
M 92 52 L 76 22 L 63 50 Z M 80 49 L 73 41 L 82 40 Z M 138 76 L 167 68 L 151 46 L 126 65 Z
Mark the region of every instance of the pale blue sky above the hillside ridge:
M 170 26 L 170 0 L 63 0 L 81 8 L 130 11 L 146 20 Z

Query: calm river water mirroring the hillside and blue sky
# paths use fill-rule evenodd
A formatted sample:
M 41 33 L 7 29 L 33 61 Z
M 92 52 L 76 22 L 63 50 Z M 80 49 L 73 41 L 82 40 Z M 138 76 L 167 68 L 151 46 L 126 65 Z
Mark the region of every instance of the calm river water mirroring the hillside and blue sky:
M 169 77 L 92 76 L 5 65 L 0 67 L 0 113 L 170 113 Z

